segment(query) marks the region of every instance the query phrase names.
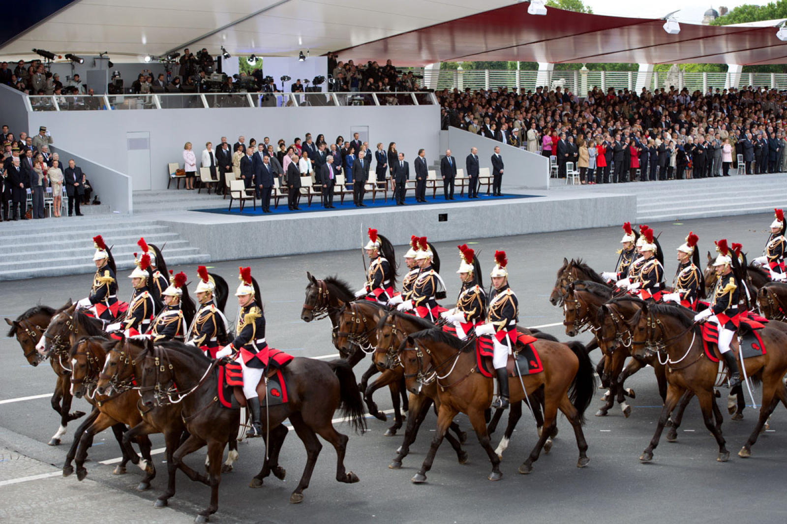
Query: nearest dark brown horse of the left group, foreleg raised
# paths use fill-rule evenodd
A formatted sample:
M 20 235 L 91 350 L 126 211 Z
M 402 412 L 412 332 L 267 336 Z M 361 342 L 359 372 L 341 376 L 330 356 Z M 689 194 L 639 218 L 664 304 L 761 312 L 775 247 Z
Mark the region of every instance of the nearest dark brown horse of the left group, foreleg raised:
M 189 437 L 177 448 L 172 461 L 192 481 L 210 485 L 209 506 L 199 511 L 195 520 L 208 522 L 209 515 L 218 509 L 221 456 L 227 441 L 238 433 L 239 410 L 223 408 L 218 403 L 218 378 L 212 373 L 218 361 L 209 359 L 198 349 L 176 341 L 150 344 L 140 355 L 140 360 L 142 377 L 139 392 L 142 394 L 142 406 L 153 408 L 157 404 L 170 402 L 183 404 L 182 415 Z M 339 408 L 353 429 L 360 431 L 365 427 L 363 402 L 352 368 L 346 360 L 323 362 L 296 357 L 282 369 L 282 375 L 287 384 L 288 401 L 286 404 L 264 408 L 263 434 L 268 457 L 249 486 L 260 488 L 263 479 L 271 472 L 277 478 L 285 477 L 286 470 L 278 464 L 279 451 L 289 433 L 282 424 L 285 419 L 290 419 L 308 456 L 301 482 L 290 495 L 291 504 L 301 502 L 303 490 L 309 487 L 312 470 L 323 447 L 317 438 L 318 434 L 336 449 L 336 480 L 348 484 L 358 482 L 357 475 L 346 471 L 344 466 L 349 439 L 338 433 L 331 422 L 334 411 Z M 178 385 L 177 389 L 175 384 Z M 257 390 L 264 398 L 265 383 L 260 382 Z M 205 445 L 208 446 L 209 470 L 207 475 L 202 475 L 183 463 L 183 457 Z M 167 492 L 157 499 L 156 507 L 166 506 L 168 499 L 175 495 L 173 475 L 174 472 L 171 472 L 170 485 Z

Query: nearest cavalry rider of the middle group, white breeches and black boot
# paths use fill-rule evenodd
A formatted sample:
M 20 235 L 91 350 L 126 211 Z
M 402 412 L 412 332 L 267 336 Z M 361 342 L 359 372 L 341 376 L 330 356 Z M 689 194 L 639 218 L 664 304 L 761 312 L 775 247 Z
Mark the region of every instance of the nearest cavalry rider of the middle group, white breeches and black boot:
M 495 266 L 492 270 L 492 286 L 490 303 L 486 312 L 486 323 L 475 327 L 478 336 L 490 334 L 493 344 L 492 365 L 497 374 L 497 401 L 493 408 L 508 408 L 508 353 L 516 342 L 516 322 L 519 316 L 519 301 L 508 287 L 508 259 L 504 251 L 495 251 Z

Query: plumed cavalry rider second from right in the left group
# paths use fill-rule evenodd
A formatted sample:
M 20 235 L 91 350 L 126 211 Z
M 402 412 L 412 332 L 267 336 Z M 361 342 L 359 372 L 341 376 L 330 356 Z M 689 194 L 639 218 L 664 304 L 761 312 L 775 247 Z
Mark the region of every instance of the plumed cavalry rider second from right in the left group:
M 200 308 L 186 334 L 186 343 L 197 346 L 205 352 L 205 356 L 215 359 L 216 352 L 221 349 L 224 339 L 227 338 L 227 318 L 216 306 L 213 297 L 213 293 L 216 292 L 216 282 L 208 274 L 208 269 L 199 266 L 197 274 L 199 282 L 194 293 L 197 295 Z

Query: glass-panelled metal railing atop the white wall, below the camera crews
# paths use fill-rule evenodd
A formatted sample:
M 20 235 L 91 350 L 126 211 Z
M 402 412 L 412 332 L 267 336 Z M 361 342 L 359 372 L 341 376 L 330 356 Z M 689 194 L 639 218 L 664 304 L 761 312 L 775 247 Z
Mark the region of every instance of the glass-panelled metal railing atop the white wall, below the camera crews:
M 434 93 L 173 93 L 28 96 L 29 111 L 438 105 Z

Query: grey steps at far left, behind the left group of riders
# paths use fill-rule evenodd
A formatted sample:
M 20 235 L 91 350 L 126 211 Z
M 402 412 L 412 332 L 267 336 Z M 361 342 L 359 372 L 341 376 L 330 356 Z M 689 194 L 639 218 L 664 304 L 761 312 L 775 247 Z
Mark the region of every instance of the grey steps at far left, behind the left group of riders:
M 81 220 L 24 220 L 0 224 L 0 280 L 77 275 L 95 271 L 93 237 L 101 234 L 112 247 L 117 268 L 134 266 L 137 241 L 157 245 L 169 268 L 203 264 L 210 256 L 200 253 L 168 226 L 127 216 L 95 216 Z M 164 245 L 166 244 L 166 245 Z

